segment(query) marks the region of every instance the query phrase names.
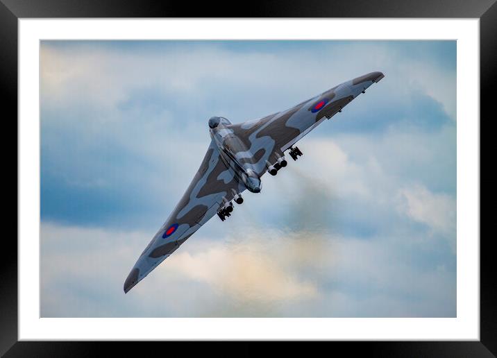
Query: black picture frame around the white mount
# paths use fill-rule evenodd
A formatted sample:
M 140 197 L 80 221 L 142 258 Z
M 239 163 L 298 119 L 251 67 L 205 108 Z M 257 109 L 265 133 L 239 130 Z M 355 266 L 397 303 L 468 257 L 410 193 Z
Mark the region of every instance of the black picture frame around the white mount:
M 152 0 L 0 0 L 0 78 L 4 124 L 17 125 L 17 21 L 33 17 L 473 17 L 480 19 L 480 118 L 489 121 L 493 107 L 491 85 L 497 78 L 497 4 L 496 0 L 277 0 L 260 3 L 211 1 L 205 3 Z M 460 90 L 460 89 L 458 89 Z M 481 119 L 480 119 L 481 123 Z M 3 128 L 6 128 L 5 126 Z M 6 133 L 6 131 L 4 132 Z M 12 135 L 4 135 L 12 137 Z M 17 138 L 17 136 L 16 136 Z M 3 143 L 7 143 L 3 141 Z M 7 148 L 7 147 L 6 147 Z M 6 148 L 4 150 L 6 150 Z M 9 146 L 9 149 L 12 146 Z M 483 151 L 481 149 L 484 149 Z M 12 151 L 12 149 L 10 149 Z M 10 152 L 9 151 L 9 152 Z M 9 153 L 4 152 L 4 153 Z M 480 153 L 489 153 L 481 146 Z M 17 167 L 17 160 L 16 160 Z M 7 166 L 4 166 L 6 169 Z M 10 171 L 8 171 L 10 172 Z M 16 171 L 17 173 L 17 171 Z M 481 175 L 481 173 L 480 173 Z M 16 174 L 16 183 L 19 178 Z M 13 179 L 11 180 L 13 181 Z M 18 189 L 19 190 L 19 189 Z M 12 191 L 12 190 L 10 190 Z M 5 205 L 4 205 L 5 207 Z M 17 207 L 17 205 L 16 205 Z M 11 210 L 13 212 L 13 210 Z M 15 211 L 17 213 L 17 210 Z M 7 221 L 4 221 L 7 222 Z M 17 227 L 16 227 L 17 230 Z M 5 232 L 5 231 L 4 231 Z M 17 237 L 17 235 L 16 235 Z M 480 341 L 410 342 L 326 342 L 326 350 L 342 348 L 347 355 L 362 353 L 373 357 L 496 357 L 497 284 L 496 264 L 491 237 L 480 235 Z M 108 356 L 122 350 L 127 354 L 165 354 L 178 343 L 115 342 L 28 342 L 17 341 L 17 239 L 4 235 L 0 280 L 0 353 L 5 357 Z M 199 347 L 201 346 L 201 347 Z M 167 347 L 167 348 L 166 348 Z M 183 348 L 183 347 L 182 347 Z M 194 343 L 189 352 L 212 350 L 219 355 L 249 356 L 261 353 L 283 355 L 283 350 L 308 355 L 308 348 L 294 343 L 277 347 L 262 342 Z M 317 351 L 318 352 L 318 351 Z

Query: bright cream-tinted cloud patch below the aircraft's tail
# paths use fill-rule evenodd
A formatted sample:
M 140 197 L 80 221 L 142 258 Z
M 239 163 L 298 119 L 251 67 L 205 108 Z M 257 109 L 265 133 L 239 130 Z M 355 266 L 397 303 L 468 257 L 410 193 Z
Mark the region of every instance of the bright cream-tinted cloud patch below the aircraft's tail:
M 273 240 L 271 236 L 264 233 L 267 240 Z M 222 245 L 214 241 L 202 253 L 178 254 L 171 259 L 169 269 L 186 279 L 205 282 L 235 300 L 265 302 L 316 296 L 312 282 L 299 280 L 287 263 L 283 265 L 286 257 L 273 255 L 275 243 L 267 250 L 271 246 L 267 240 L 262 241 L 259 234 L 244 238 L 243 243 Z

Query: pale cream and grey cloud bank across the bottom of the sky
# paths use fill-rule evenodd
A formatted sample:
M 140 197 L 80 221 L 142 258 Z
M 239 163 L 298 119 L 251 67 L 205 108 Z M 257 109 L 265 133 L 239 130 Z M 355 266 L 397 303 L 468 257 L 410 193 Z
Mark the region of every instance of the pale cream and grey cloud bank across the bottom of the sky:
M 123 280 L 149 232 L 53 223 L 41 232 L 44 317 L 455 315 L 452 269 L 409 265 L 420 248 L 408 241 L 199 232 L 125 295 Z

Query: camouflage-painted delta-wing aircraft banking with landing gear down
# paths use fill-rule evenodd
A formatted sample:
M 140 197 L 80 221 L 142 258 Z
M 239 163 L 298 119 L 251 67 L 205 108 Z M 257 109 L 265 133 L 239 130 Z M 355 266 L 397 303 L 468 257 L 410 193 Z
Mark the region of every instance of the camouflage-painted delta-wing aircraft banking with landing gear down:
M 233 201 L 243 203 L 242 192 L 261 191 L 266 172 L 276 176 L 287 166 L 285 151 L 293 160 L 302 152 L 294 146 L 324 119 L 342 112 L 349 102 L 384 77 L 371 72 L 337 85 L 289 110 L 262 119 L 232 124 L 224 117 L 209 119 L 212 138 L 199 171 L 180 202 L 131 270 L 128 292 L 158 264 L 174 253 L 212 216 L 224 221 L 233 212 Z

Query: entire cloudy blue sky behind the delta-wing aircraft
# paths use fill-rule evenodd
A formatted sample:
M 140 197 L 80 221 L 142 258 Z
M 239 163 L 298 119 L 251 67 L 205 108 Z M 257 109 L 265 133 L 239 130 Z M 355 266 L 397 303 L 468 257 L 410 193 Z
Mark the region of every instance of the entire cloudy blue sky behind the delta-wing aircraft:
M 456 316 L 455 41 L 42 41 L 42 317 Z M 385 74 L 126 295 L 210 143 Z

